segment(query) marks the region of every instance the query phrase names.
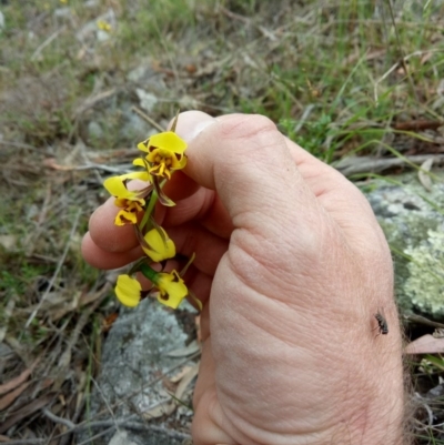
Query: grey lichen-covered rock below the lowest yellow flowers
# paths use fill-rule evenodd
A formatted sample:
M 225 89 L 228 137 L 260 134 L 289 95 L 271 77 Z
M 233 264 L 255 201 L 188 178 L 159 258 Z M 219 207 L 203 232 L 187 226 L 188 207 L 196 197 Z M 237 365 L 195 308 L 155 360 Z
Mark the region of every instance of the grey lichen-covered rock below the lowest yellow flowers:
M 151 299 L 134 310 L 121 310 L 103 347 L 101 375 L 89 414 L 93 423 L 88 432 L 82 432 L 79 442 L 89 435 L 103 434 L 94 443 L 119 444 L 122 436 L 114 434 L 115 422 L 119 431 L 128 434 L 127 439 L 134 444 L 181 445 L 189 439 L 190 409 L 181 407 L 167 418 L 157 416 L 150 421 L 147 415 L 171 401 L 162 381 L 186 364 L 186 358 L 169 355 L 186 346 L 189 336 L 178 321 L 183 316 L 193 318 L 194 314 L 186 307 L 171 311 Z M 97 424 L 98 421 L 104 423 Z M 110 431 L 107 433 L 107 429 Z

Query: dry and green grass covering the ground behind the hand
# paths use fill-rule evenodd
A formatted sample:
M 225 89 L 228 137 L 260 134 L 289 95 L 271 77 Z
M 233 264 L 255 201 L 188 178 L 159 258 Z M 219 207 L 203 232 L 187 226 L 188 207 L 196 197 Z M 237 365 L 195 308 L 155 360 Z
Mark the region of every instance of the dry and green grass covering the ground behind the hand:
M 103 165 L 121 169 L 153 130 L 132 111 L 138 89 L 161 125 L 178 107 L 262 113 L 326 162 L 389 158 L 386 145 L 443 152 L 438 1 L 400 4 L 398 39 L 383 0 L 13 0 L 0 10 L 0 384 L 32 367 L 0 412 L 8 437 L 56 437 L 60 418 L 80 422 L 118 305 L 79 243 L 105 199 Z M 441 434 L 425 427 L 418 443 Z

